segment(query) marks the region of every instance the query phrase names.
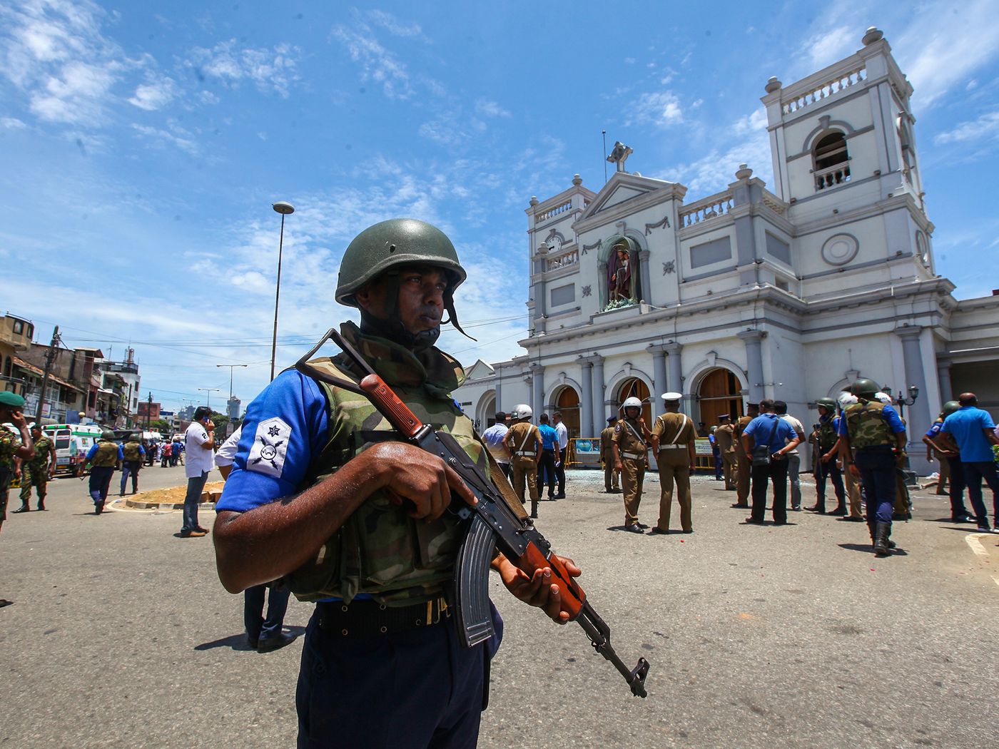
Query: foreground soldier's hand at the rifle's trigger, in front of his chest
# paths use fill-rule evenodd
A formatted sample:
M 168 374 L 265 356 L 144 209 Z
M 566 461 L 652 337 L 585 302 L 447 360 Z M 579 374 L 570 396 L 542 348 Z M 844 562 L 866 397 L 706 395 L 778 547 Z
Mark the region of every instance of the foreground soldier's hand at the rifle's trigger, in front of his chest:
M 479 501 L 454 468 L 412 444 L 381 442 L 362 454 L 375 460 L 382 487 L 393 501 L 412 503 L 411 517 L 436 520 L 448 509 L 452 492 L 469 504 Z

